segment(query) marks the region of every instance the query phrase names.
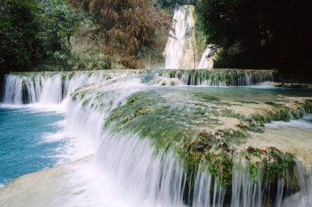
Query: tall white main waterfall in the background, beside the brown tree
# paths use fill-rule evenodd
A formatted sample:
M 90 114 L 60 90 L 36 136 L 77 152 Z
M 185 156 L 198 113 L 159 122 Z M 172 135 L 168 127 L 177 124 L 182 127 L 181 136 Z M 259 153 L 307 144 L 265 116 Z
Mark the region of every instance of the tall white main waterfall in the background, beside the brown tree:
M 164 52 L 165 68 L 195 68 L 196 40 L 191 6 L 177 6 L 173 19 L 176 20 L 175 33 L 169 33 Z

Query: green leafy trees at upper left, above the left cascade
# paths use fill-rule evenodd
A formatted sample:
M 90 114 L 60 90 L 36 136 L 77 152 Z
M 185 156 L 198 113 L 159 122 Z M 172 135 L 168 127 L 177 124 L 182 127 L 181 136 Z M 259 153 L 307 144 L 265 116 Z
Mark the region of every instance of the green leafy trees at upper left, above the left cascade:
M 75 60 L 77 55 L 70 55 L 71 37 L 80 30 L 83 13 L 68 7 L 66 1 L 1 1 L 0 15 L 0 67 L 6 71 L 46 69 L 57 62 L 55 69 L 47 69 L 55 71 L 62 60 L 70 59 L 64 56 Z

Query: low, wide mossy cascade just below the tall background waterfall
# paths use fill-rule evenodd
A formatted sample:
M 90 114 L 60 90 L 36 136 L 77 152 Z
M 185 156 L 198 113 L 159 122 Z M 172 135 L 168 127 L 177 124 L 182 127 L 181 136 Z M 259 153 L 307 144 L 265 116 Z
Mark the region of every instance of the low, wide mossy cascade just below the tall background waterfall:
M 273 82 L 273 71 L 165 69 L 159 75 L 165 78 L 177 78 L 187 85 L 209 87 L 245 87 L 263 84 L 263 82 Z

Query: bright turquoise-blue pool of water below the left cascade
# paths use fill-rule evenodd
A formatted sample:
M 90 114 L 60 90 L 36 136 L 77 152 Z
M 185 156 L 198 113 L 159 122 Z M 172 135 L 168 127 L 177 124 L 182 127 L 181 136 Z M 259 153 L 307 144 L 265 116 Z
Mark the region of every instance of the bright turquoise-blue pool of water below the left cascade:
M 6 108 L 0 104 L 0 188 L 23 174 L 53 167 L 55 149 L 65 141 L 46 141 L 57 133 L 64 114 L 29 108 Z

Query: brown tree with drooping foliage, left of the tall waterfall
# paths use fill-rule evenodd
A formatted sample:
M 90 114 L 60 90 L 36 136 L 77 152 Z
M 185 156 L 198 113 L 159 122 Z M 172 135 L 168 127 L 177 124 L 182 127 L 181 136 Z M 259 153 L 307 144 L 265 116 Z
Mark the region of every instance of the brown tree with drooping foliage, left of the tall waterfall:
M 148 0 L 71 0 L 73 6 L 83 7 L 89 12 L 98 12 L 101 25 L 96 32 L 105 38 L 105 55 L 108 67 L 112 62 L 134 69 L 143 63 L 139 57 L 156 54 L 159 37 L 164 37 L 162 30 L 172 26 L 171 15 L 164 12 L 157 14 Z M 162 25 L 153 18 L 162 17 Z M 170 19 L 170 20 L 169 20 Z M 157 28 L 158 26 L 158 28 Z M 168 35 L 166 35 L 168 37 Z M 165 38 L 165 37 L 164 37 Z M 164 48 L 164 46 L 163 46 Z

